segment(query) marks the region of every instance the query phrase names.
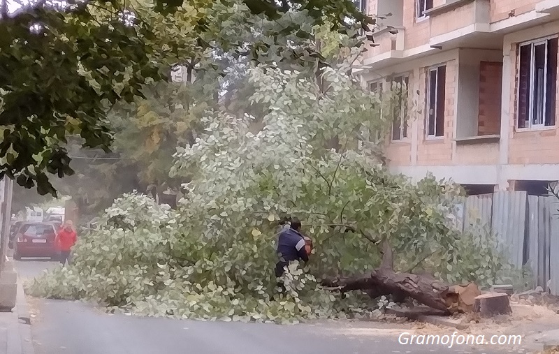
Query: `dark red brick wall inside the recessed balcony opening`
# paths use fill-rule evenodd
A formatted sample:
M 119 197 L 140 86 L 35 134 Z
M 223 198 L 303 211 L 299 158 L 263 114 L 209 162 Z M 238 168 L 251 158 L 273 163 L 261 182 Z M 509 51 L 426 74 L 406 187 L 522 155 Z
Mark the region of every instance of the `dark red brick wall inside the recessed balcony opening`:
M 499 134 L 501 128 L 502 63 L 481 61 L 479 66 L 479 135 Z

